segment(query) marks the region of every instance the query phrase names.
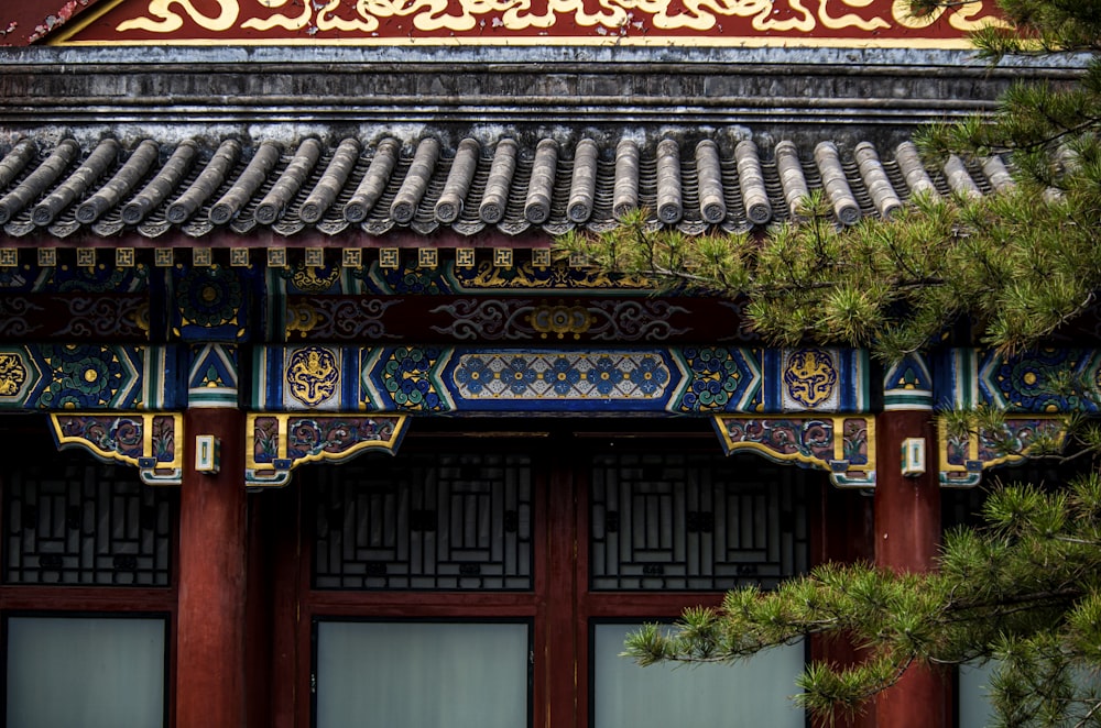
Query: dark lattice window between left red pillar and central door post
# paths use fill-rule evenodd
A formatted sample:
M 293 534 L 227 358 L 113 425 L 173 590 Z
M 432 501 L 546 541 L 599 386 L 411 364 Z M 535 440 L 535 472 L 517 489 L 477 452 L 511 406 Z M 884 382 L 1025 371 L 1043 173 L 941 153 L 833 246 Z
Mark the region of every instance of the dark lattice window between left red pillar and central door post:
M 318 477 L 316 588 L 532 588 L 526 455 L 403 455 Z

